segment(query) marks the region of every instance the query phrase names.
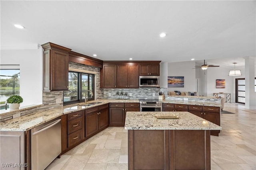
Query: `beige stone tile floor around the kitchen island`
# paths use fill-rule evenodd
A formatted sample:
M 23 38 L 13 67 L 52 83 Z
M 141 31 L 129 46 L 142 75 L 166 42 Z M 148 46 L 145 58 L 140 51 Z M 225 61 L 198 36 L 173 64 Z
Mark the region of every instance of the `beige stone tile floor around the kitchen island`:
M 212 170 L 256 170 L 256 111 L 226 103 L 219 137 L 211 136 Z M 46 170 L 128 170 L 127 131 L 108 127 L 56 158 Z

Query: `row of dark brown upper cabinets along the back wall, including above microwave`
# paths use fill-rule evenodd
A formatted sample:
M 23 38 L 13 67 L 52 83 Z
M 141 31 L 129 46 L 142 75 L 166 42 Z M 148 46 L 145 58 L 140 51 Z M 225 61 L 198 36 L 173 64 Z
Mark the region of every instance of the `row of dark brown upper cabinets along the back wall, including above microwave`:
M 104 61 L 100 88 L 139 88 L 139 75 L 160 75 L 160 61 Z

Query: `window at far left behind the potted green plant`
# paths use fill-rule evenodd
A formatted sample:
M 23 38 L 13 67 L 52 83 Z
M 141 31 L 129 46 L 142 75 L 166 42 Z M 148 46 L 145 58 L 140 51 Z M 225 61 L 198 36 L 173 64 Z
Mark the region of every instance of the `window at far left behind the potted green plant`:
M 1 109 L 5 109 L 6 100 L 13 95 L 20 95 L 20 69 L 0 69 Z

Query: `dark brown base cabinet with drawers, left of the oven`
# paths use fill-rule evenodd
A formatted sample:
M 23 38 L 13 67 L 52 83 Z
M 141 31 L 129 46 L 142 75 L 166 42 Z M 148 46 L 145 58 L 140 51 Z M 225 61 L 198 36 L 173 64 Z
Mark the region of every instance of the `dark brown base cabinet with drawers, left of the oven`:
M 127 111 L 140 111 L 140 103 L 110 103 L 109 126 L 124 126 Z

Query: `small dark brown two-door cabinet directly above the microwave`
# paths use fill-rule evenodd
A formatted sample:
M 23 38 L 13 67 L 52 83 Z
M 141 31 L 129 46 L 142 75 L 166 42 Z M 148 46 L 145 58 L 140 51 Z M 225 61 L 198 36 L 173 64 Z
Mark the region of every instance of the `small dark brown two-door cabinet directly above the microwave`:
M 140 64 L 140 76 L 159 76 L 160 65 L 159 64 Z

